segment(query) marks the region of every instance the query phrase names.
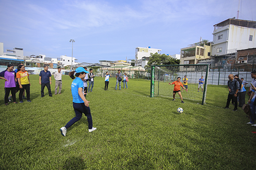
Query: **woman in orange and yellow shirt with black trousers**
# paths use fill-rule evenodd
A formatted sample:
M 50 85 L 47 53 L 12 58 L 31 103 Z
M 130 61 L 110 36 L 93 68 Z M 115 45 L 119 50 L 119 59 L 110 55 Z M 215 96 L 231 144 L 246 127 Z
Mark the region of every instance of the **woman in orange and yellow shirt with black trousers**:
M 22 94 L 26 90 L 27 94 L 27 101 L 31 102 L 30 100 L 30 81 L 29 81 L 29 74 L 25 71 L 25 66 L 19 65 L 18 71 L 16 76 L 19 82 L 19 102 L 23 103 Z

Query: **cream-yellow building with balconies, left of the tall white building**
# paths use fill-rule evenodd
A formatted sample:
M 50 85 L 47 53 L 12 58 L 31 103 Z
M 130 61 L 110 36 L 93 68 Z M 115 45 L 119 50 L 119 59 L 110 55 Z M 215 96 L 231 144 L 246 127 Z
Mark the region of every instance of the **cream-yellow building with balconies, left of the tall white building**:
M 210 58 L 212 50 L 212 42 L 200 41 L 189 45 L 189 47 L 181 48 L 180 64 L 197 64 L 198 60 Z

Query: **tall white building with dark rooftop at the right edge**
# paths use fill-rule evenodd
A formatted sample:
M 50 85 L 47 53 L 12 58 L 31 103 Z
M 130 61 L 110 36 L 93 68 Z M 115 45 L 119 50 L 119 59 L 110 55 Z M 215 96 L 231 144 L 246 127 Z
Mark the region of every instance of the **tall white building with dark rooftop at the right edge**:
M 256 47 L 256 21 L 227 19 L 214 25 L 212 56 Z

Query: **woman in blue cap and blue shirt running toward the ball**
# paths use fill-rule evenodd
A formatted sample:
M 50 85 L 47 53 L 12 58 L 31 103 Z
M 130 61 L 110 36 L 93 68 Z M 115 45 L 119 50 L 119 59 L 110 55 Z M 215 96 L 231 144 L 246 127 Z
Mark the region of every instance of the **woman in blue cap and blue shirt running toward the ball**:
M 74 123 L 81 119 L 83 113 L 87 116 L 89 132 L 96 130 L 96 127 L 92 127 L 92 117 L 89 108 L 89 101 L 85 99 L 83 91 L 84 82 L 82 79 L 85 78 L 86 73 L 89 72 L 86 71 L 83 67 L 78 67 L 75 71 L 69 72 L 69 76 L 72 79 L 75 79 L 72 82 L 71 91 L 73 96 L 73 108 L 75 110 L 76 116 L 60 129 L 63 136 L 66 136 L 68 127 L 72 126 Z

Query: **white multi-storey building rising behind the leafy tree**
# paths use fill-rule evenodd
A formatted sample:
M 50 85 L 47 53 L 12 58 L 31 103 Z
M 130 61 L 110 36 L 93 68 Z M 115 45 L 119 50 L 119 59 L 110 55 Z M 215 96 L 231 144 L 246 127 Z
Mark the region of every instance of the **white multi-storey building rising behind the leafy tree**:
M 145 61 L 143 62 L 143 57 L 144 60 L 147 60 L 147 58 L 150 57 L 150 54 L 160 54 L 161 49 L 156 49 L 156 48 L 150 48 L 150 47 L 137 47 L 135 49 L 135 66 L 142 66 L 146 63 Z M 146 65 L 146 64 L 145 64 Z M 145 66 L 144 66 L 145 67 Z M 143 68 L 144 68 L 143 67 Z

